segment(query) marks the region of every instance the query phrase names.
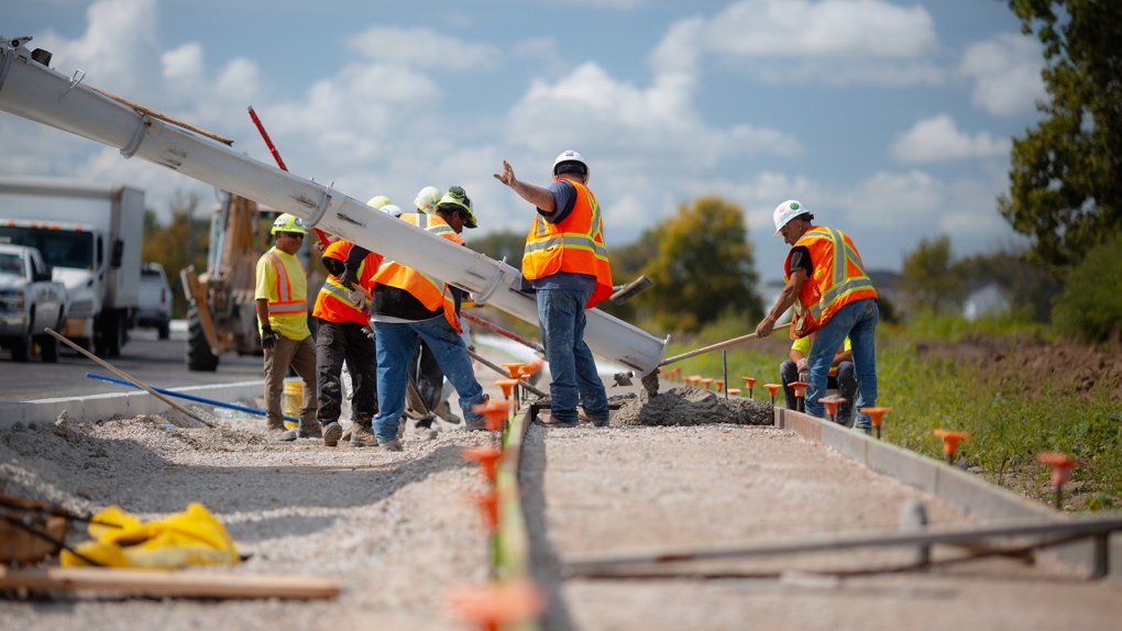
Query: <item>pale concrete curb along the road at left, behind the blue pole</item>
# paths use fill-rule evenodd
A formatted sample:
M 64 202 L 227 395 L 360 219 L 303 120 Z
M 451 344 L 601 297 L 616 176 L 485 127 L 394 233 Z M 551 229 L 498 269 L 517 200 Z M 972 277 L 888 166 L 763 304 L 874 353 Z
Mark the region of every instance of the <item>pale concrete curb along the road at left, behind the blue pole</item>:
M 257 397 L 260 397 L 265 391 L 265 382 L 239 381 L 236 383 L 169 388 L 168 390 L 236 403 L 238 401 L 252 401 Z M 206 406 L 206 403 L 175 397 L 172 400 L 187 409 L 191 409 L 192 406 Z M 54 423 L 64 410 L 71 420 L 95 423 L 98 420 L 110 419 L 116 415 L 128 418 L 139 415 L 162 414 L 169 409 L 172 407 L 165 401 L 153 397 L 144 390 L 86 397 L 3 402 L 0 403 L 0 429 L 9 429 L 17 423 L 22 423 L 24 425 L 31 423 Z

